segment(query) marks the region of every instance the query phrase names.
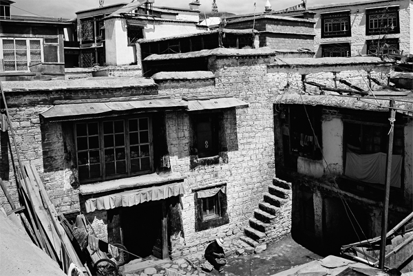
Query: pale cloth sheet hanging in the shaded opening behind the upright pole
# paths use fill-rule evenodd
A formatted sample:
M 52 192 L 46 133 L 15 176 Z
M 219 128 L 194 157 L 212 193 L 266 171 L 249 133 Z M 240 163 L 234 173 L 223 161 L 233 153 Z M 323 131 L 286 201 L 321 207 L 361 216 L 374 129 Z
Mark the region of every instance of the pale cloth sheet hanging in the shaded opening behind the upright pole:
M 357 154 L 347 151 L 346 172 L 349 178 L 368 183 L 385 184 L 386 153 Z M 401 187 L 402 156 L 392 156 L 390 186 Z

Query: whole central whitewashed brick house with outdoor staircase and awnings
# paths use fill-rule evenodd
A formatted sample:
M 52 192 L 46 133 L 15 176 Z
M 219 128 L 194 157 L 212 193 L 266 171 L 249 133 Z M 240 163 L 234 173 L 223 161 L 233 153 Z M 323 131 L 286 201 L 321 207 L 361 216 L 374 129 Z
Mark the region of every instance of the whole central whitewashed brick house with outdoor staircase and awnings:
M 374 58 L 311 65 L 277 54 L 198 51 L 186 59 L 204 60 L 206 70 L 6 82 L 21 159 L 39 170 L 58 211 L 85 213 L 100 239 L 138 255 L 176 258 L 216 236 L 253 246 L 277 240 L 290 232 L 292 198 L 290 184 L 275 178 L 283 149 L 275 103 L 301 89 L 301 69 L 331 81 L 331 71 L 381 79 L 391 67 Z M 143 62 L 175 64 L 175 55 Z M 7 140 L 1 132 L 1 178 L 17 202 Z

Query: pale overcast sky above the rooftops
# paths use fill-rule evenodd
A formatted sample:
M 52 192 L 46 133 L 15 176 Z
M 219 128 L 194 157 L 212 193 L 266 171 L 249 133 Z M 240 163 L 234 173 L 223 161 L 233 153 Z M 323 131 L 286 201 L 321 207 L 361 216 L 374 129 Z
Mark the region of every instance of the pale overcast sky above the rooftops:
M 12 14 L 40 15 L 43 17 L 63 17 L 71 19 L 76 17 L 75 12 L 98 8 L 99 0 L 13 0 Z M 321 6 L 331 3 L 348 3 L 356 0 L 308 0 L 308 6 Z M 360 1 L 360 0 L 357 0 Z M 115 3 L 129 3 L 131 0 L 105 0 L 104 6 Z M 155 6 L 176 8 L 189 8 L 191 0 L 155 0 Z M 200 0 L 200 10 L 211 12 L 213 0 Z M 248 14 L 254 12 L 254 3 L 257 4 L 256 12 L 264 12 L 266 0 L 215 0 L 219 12 L 232 12 L 235 14 Z M 301 3 L 301 0 L 270 0 L 273 10 L 282 10 Z

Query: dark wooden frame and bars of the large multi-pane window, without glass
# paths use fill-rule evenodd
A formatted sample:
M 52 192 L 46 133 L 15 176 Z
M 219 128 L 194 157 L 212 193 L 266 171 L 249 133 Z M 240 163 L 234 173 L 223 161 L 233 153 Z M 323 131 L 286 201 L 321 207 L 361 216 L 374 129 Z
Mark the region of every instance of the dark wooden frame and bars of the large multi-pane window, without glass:
M 147 119 L 147 124 L 148 124 L 148 129 L 138 129 L 137 131 L 131 131 L 129 129 L 129 125 L 130 125 L 130 121 L 131 120 L 140 120 L 140 119 Z M 109 137 L 111 134 L 104 132 L 104 123 L 109 123 L 112 122 L 118 122 L 118 121 L 122 121 L 123 122 L 123 132 L 119 132 L 118 135 L 123 134 L 124 138 L 124 145 L 116 145 L 116 142 L 114 142 L 113 146 L 108 146 L 106 147 L 105 145 L 105 136 Z M 87 140 L 89 141 L 89 136 L 78 136 L 77 134 L 77 125 L 80 124 L 92 124 L 92 123 L 96 123 L 98 124 L 98 141 L 99 141 L 99 146 L 98 149 L 83 149 L 83 150 L 79 150 L 78 149 L 78 138 L 87 138 Z M 138 137 L 140 137 L 140 132 L 148 132 L 148 141 L 147 142 L 137 142 L 132 144 L 131 140 L 130 140 L 130 136 L 131 134 L 138 134 Z M 115 133 L 113 133 L 113 137 L 116 136 Z M 115 141 L 115 140 L 112 140 Z M 147 174 L 147 173 L 152 173 L 153 172 L 153 134 L 152 134 L 152 119 L 151 116 L 147 115 L 143 115 L 143 116 L 127 116 L 127 117 L 119 117 L 119 118 L 103 118 L 100 120 L 88 120 L 85 122 L 76 122 L 74 123 L 74 142 L 75 142 L 75 150 L 76 150 L 76 165 L 77 168 L 79 170 L 79 158 L 78 158 L 78 153 L 82 153 L 82 152 L 88 152 L 88 156 L 89 156 L 89 152 L 90 151 L 98 151 L 99 152 L 99 162 L 96 162 L 94 164 L 99 164 L 99 168 L 100 168 L 100 177 L 95 177 L 95 178 L 91 178 L 90 177 L 90 158 L 88 159 L 88 162 L 86 163 L 88 166 L 88 170 L 89 170 L 89 178 L 83 178 L 81 179 L 80 173 L 79 173 L 79 182 L 81 184 L 85 184 L 85 183 L 90 183 L 90 182 L 96 182 L 96 181 L 105 181 L 105 180 L 113 180 L 113 179 L 117 179 L 117 178 L 125 178 L 125 177 L 130 177 L 130 176 L 139 176 L 142 174 Z M 131 156 L 132 151 L 131 148 L 132 147 L 149 147 L 149 156 Z M 114 151 L 114 164 L 115 164 L 115 173 L 113 174 L 108 174 L 107 173 L 107 163 L 112 162 L 112 160 L 108 160 L 105 156 L 105 150 L 108 153 L 110 150 Z M 125 159 L 119 159 L 116 160 L 115 154 L 118 155 L 116 153 L 116 149 L 125 149 Z M 132 171 L 132 161 L 136 160 L 136 159 L 143 159 L 143 158 L 148 158 L 149 157 L 149 169 L 142 169 L 140 171 Z M 125 172 L 116 172 L 116 162 L 122 162 L 123 160 L 125 160 Z M 83 166 L 83 164 L 81 164 Z M 141 163 L 140 163 L 141 166 Z

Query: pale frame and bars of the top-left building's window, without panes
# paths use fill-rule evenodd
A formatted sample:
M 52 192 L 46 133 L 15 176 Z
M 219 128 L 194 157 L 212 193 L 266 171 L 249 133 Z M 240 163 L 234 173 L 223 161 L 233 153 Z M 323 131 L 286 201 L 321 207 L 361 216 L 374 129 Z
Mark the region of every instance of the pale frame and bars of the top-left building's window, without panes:
M 30 63 L 32 62 L 32 61 L 39 61 L 39 63 L 44 63 L 44 54 L 43 54 L 43 39 L 32 39 L 32 38 L 24 38 L 24 37 L 3 37 L 3 38 L 1 38 L 0 39 L 1 40 L 1 47 L 0 47 L 0 50 L 1 50 L 1 58 L 3 59 L 3 66 L 4 66 L 4 71 L 6 71 L 6 72 L 30 72 L 30 69 L 29 69 L 29 67 L 30 67 Z M 13 41 L 13 45 L 14 45 L 14 48 L 13 49 L 4 49 L 4 41 L 7 41 L 7 40 L 12 40 Z M 23 50 L 19 50 L 19 49 L 17 49 L 17 47 L 16 47 L 16 41 L 25 41 L 25 43 L 26 43 L 26 49 L 25 49 L 25 52 L 26 52 L 26 59 L 25 60 L 23 60 L 23 59 L 21 59 L 21 60 L 19 60 L 19 59 L 16 59 L 16 51 L 21 51 L 21 52 L 23 52 Z M 37 49 L 30 49 L 30 41 L 39 41 L 39 43 L 40 43 L 40 50 L 37 50 Z M 5 57 L 4 57 L 4 51 L 11 51 L 11 50 L 13 50 L 14 51 L 14 59 L 5 59 Z M 31 58 L 31 52 L 33 52 L 33 51 L 39 51 L 40 52 L 40 55 L 41 55 L 41 59 L 40 60 L 38 60 L 38 59 L 33 59 L 32 60 L 32 58 Z M 6 70 L 6 65 L 4 65 L 7 61 L 14 61 L 14 68 L 15 68 L 15 70 Z M 17 70 L 17 61 L 26 61 L 26 67 L 27 67 L 27 69 L 26 70 Z

